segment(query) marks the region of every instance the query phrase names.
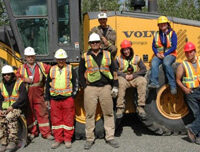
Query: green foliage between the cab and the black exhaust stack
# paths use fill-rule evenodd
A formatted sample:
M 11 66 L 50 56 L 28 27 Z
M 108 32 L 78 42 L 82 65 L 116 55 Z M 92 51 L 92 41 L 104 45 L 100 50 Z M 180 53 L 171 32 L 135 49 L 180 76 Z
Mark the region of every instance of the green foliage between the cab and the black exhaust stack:
M 118 0 L 82 0 L 82 13 L 91 11 L 117 11 L 119 10 Z

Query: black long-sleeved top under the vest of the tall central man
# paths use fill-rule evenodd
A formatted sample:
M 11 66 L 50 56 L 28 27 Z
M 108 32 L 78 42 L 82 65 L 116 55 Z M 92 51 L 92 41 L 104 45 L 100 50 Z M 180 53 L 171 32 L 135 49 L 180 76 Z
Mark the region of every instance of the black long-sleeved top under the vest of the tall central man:
M 91 55 L 93 57 L 93 59 L 95 60 L 95 62 L 97 63 L 97 65 L 100 67 L 101 66 L 101 61 L 103 59 L 103 51 L 100 51 L 99 54 L 97 56 L 95 56 L 92 53 L 92 50 L 89 50 L 87 52 L 87 55 Z M 117 72 L 117 69 L 115 67 L 114 61 L 113 59 L 111 59 L 111 65 L 109 66 L 110 72 L 111 74 L 113 74 L 113 72 Z M 86 67 L 85 67 L 85 59 L 81 58 L 80 64 L 79 64 L 79 82 L 80 85 L 85 88 L 87 85 L 89 86 L 97 86 L 97 87 L 102 87 L 105 86 L 107 84 L 113 85 L 115 87 L 118 87 L 118 81 L 117 80 L 110 80 L 109 78 L 107 78 L 104 74 L 102 74 L 101 72 L 101 79 L 92 83 L 87 84 L 86 83 L 86 79 L 85 79 L 85 72 L 86 72 Z

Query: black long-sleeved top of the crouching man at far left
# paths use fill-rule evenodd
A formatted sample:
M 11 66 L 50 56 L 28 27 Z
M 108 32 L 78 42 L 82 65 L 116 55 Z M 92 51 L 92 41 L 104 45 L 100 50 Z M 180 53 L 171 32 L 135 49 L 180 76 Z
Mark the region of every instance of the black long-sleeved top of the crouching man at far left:
M 3 80 L 4 86 L 9 94 L 9 96 L 11 96 L 11 94 L 12 94 L 15 82 L 16 82 L 16 80 L 13 80 L 10 83 L 7 83 Z M 4 101 L 4 97 L 3 97 L 2 93 L 0 92 L 0 110 L 2 110 L 3 101 Z M 28 101 L 28 94 L 26 91 L 26 86 L 25 86 L 25 83 L 22 82 L 19 87 L 19 98 L 17 99 L 17 101 L 15 103 L 12 104 L 12 107 L 14 109 L 22 109 L 26 105 L 27 101 Z

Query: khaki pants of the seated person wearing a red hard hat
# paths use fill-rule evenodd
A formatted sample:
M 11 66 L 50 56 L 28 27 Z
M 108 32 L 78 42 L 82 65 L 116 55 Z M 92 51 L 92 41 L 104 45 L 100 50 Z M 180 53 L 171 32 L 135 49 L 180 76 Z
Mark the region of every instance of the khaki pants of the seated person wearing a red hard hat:
M 131 81 L 127 81 L 124 77 L 119 76 L 119 94 L 117 98 L 117 108 L 125 109 L 125 93 L 126 89 L 135 87 L 138 93 L 138 106 L 145 106 L 147 81 L 144 77 L 139 76 Z

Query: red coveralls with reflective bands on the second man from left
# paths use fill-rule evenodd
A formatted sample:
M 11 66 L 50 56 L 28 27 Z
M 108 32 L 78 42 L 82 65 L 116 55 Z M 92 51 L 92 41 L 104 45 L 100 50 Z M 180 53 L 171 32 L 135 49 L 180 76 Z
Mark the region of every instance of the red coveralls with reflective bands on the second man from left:
M 41 62 L 40 62 L 41 63 Z M 26 70 L 28 76 L 31 76 L 31 70 L 27 64 L 22 65 Z M 17 77 L 22 80 L 25 75 L 22 74 L 22 66 L 17 70 Z M 43 64 L 45 74 L 49 73 L 50 65 Z M 44 75 L 42 69 L 38 64 L 35 65 L 35 72 L 33 77 L 33 83 L 28 85 L 28 98 L 31 111 L 28 112 L 27 124 L 28 130 L 32 135 L 38 136 L 37 123 L 39 125 L 40 133 L 44 138 L 51 135 L 51 129 L 49 126 L 48 109 L 44 100 Z

